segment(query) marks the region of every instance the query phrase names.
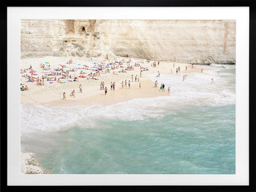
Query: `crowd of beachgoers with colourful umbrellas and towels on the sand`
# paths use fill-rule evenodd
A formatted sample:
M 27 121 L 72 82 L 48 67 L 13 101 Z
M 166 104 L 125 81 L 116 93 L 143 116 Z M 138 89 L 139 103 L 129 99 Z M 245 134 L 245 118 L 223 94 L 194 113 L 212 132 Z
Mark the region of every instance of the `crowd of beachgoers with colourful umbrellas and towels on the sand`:
M 33 89 L 36 89 L 34 85 L 38 87 L 43 87 L 46 84 L 49 85 L 53 84 L 54 82 L 59 84 L 70 84 L 71 82 L 79 82 L 78 84 L 74 85 L 74 87 L 72 87 L 73 89 L 70 89 L 70 86 L 68 86 L 69 90 L 63 89 L 64 91 L 62 92 L 61 98 L 63 100 L 66 100 L 67 92 L 70 93 L 69 95 L 71 98 L 75 98 L 75 89 L 78 89 L 78 87 L 76 88 L 76 86 L 79 86 L 78 90 L 80 93 L 82 93 L 82 86 L 86 87 L 88 84 L 90 84 L 88 81 L 91 80 L 97 82 L 99 89 L 103 90 L 104 95 L 106 95 L 108 93 L 108 90 L 115 90 L 116 88 L 131 89 L 132 84 L 137 84 L 137 87 L 140 89 L 143 86 L 141 82 L 143 73 L 151 74 L 156 73 L 157 71 L 156 76 L 160 77 L 161 70 L 162 73 L 174 73 L 172 70 L 176 70 L 175 72 L 176 74 L 178 74 L 181 72 L 180 66 L 182 66 L 183 72 L 188 71 L 188 66 L 191 66 L 190 69 L 194 68 L 193 64 L 184 65 L 184 63 L 173 63 L 170 71 L 166 71 L 166 68 L 164 67 L 167 65 L 162 66 L 161 68 L 161 61 L 151 61 L 145 59 L 134 60 L 133 58 L 113 58 L 113 60 L 94 60 L 94 58 L 90 58 L 90 60 L 87 60 L 83 64 L 79 64 L 82 62 L 78 63 L 77 61 L 78 60 L 76 60 L 76 62 L 73 62 L 73 60 L 70 59 L 64 63 L 52 63 L 46 61 L 44 63 L 41 62 L 38 64 L 26 65 L 28 66 L 28 68 L 22 68 L 20 70 L 20 90 L 25 92 L 30 90 L 29 84 L 31 84 L 31 87 L 33 85 Z M 104 76 L 107 74 L 110 82 L 104 81 Z M 113 78 L 111 78 L 111 75 L 113 75 Z M 114 78 L 114 76 L 118 78 Z M 185 81 L 186 76 L 187 74 L 183 74 L 182 81 Z M 113 81 L 111 81 L 111 79 Z M 156 81 L 153 82 L 152 87 L 159 87 L 159 92 L 166 92 L 166 87 L 164 83 L 161 83 L 160 85 Z M 167 93 L 170 94 L 170 86 L 167 88 L 167 90 Z

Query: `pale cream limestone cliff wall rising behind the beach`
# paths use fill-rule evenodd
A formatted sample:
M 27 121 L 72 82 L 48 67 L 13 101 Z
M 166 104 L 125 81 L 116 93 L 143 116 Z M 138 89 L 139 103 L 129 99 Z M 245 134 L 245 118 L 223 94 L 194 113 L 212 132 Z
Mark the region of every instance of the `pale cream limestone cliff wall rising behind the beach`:
M 234 20 L 22 20 L 21 57 L 235 63 Z

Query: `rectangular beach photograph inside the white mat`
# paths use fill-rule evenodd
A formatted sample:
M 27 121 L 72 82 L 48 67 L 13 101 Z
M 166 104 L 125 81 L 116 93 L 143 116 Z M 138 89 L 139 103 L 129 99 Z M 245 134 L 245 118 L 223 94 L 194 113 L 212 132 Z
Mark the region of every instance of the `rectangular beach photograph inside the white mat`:
M 20 20 L 20 174 L 236 174 L 236 20 Z

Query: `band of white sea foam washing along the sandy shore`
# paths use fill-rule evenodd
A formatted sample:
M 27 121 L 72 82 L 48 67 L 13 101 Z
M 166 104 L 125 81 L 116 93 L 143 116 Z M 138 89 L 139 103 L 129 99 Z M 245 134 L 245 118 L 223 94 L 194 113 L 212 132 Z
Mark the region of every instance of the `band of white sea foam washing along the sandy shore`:
M 234 67 L 234 66 L 233 66 Z M 21 135 L 34 132 L 53 132 L 79 126 L 90 128 L 102 120 L 140 121 L 162 118 L 166 113 L 190 106 L 222 106 L 235 103 L 234 85 L 220 75 L 216 66 L 209 66 L 209 73 L 165 74 L 153 81 L 164 83 L 169 97 L 135 98 L 128 102 L 103 106 L 50 106 L 35 103 L 21 105 Z M 207 69 L 207 68 L 206 68 Z M 183 74 L 188 74 L 182 81 Z M 214 84 L 211 79 L 214 78 Z M 159 88 L 156 88 L 159 89 Z

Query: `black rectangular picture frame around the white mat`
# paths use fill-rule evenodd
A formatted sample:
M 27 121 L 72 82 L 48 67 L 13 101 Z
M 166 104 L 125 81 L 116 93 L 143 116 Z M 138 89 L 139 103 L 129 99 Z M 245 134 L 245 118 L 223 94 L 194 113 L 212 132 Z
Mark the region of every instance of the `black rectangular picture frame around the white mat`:
M 148 1 L 81 1 L 81 0 L 22 0 L 0 2 L 0 60 L 1 60 L 1 190 L 2 191 L 55 191 L 55 190 L 132 190 L 132 191 L 256 191 L 255 187 L 255 128 L 252 121 L 255 100 L 250 92 L 249 97 L 249 186 L 7 186 L 7 7 L 221 7 L 221 6 L 249 6 L 250 7 L 250 46 L 249 46 L 249 90 L 254 90 L 255 61 L 255 28 L 256 3 L 255 1 L 194 1 L 194 0 L 148 0 Z

